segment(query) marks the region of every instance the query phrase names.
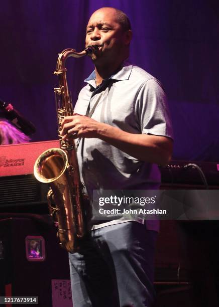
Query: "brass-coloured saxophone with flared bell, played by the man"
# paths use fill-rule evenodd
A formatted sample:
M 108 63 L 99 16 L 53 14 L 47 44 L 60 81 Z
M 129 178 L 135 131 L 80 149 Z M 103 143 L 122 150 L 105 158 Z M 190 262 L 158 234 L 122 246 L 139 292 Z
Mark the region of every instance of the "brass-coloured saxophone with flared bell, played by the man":
M 62 119 L 73 115 L 65 61 L 68 57 L 80 58 L 92 54 L 97 48 L 98 46 L 88 46 L 80 53 L 74 49 L 65 49 L 59 54 L 54 72 L 59 78 L 59 87 L 55 88 L 54 92 L 60 148 L 44 151 L 34 165 L 36 179 L 50 184 L 51 189 L 47 195 L 49 212 L 58 225 L 59 244 L 68 252 L 75 252 L 78 249 L 80 240 L 87 232 L 87 224 L 75 143 L 63 140 L 60 134 Z

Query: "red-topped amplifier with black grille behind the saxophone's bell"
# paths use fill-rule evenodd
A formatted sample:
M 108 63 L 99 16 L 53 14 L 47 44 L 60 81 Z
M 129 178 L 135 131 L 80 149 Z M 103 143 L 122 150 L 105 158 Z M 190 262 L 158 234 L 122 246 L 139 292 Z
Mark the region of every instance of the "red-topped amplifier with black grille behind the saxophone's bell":
M 33 175 L 43 151 L 59 148 L 59 141 L 0 146 L 0 212 L 47 214 L 49 185 Z

